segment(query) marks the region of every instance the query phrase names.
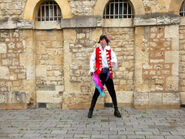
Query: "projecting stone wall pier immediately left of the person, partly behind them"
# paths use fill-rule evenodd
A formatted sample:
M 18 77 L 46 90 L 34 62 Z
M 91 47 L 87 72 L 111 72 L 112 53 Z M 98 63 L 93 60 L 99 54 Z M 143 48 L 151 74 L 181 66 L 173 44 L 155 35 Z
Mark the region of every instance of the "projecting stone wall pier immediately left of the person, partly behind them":
M 65 80 L 68 81 L 65 82 L 63 95 L 64 109 L 88 108 L 90 105 L 94 85 L 89 75 L 89 61 L 97 42 L 93 38 L 93 32 L 96 32 L 96 29 L 79 28 L 64 31 L 64 51 L 68 53 L 65 61 L 66 66 L 69 66 L 65 70 Z M 103 102 L 104 98 L 99 97 L 97 107 L 103 107 Z

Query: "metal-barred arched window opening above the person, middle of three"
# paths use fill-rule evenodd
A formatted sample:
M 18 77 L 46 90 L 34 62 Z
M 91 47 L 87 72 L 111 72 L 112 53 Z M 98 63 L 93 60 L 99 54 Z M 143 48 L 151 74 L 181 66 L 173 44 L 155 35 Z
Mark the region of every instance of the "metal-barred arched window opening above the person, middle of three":
M 111 0 L 104 10 L 103 18 L 133 18 L 133 16 L 128 0 Z

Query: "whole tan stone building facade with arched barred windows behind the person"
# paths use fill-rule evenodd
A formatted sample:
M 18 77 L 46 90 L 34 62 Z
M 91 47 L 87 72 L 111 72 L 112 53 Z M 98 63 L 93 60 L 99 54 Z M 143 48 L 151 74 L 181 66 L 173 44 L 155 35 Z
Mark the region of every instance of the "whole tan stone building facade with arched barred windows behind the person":
M 184 0 L 1 0 L 0 109 L 88 108 L 101 34 L 118 58 L 119 106 L 185 104 Z M 111 103 L 108 93 L 97 108 Z

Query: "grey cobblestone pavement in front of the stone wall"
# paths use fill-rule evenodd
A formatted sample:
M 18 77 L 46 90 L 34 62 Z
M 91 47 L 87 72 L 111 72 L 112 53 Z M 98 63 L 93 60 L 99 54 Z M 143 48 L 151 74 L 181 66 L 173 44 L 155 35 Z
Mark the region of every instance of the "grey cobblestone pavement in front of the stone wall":
M 136 110 L 120 108 L 88 110 L 0 110 L 0 139 L 184 139 L 185 108 L 179 110 Z

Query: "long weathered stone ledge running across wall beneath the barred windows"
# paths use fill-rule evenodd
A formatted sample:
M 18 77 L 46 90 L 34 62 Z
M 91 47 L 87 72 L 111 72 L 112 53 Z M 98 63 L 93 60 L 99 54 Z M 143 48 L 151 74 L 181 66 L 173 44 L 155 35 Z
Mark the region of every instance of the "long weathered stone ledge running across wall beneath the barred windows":
M 126 23 L 123 21 L 127 21 Z M 134 22 L 132 24 L 132 21 Z M 180 24 L 179 15 L 169 13 L 153 13 L 136 16 L 133 19 L 103 19 L 99 16 L 74 16 L 62 19 L 61 22 L 35 22 L 8 17 L 0 19 L 0 29 L 63 29 L 63 28 L 94 28 L 94 27 L 134 27 L 151 25 Z M 34 23 L 35 22 L 35 23 Z M 43 25 L 45 24 L 45 25 Z

